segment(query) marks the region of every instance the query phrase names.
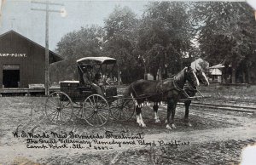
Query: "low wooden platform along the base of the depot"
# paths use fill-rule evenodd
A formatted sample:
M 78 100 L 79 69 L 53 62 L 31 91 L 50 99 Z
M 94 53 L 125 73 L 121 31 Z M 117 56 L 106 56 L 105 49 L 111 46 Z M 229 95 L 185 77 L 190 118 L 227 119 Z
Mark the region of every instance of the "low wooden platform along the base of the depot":
M 0 95 L 44 94 L 44 88 L 0 88 Z M 60 91 L 60 87 L 49 88 L 49 93 Z

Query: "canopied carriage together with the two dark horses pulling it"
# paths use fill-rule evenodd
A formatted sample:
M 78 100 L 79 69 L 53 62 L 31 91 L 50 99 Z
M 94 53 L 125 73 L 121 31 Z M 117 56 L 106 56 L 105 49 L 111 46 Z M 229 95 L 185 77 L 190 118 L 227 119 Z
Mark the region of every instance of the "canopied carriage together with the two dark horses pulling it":
M 175 128 L 173 123 L 177 101 L 185 99 L 185 121 L 189 123 L 189 105 L 195 99 L 201 83 L 209 84 L 202 71 L 185 67 L 174 77 L 160 81 L 138 80 L 131 83 L 123 95 L 118 95 L 117 88 L 108 83 L 116 60 L 109 57 L 85 57 L 77 60 L 79 81 L 63 81 L 61 92 L 49 94 L 45 104 L 45 114 L 51 122 L 65 124 L 73 117 L 83 119 L 91 126 L 102 126 L 109 117 L 119 121 L 129 120 L 135 110 L 137 122 L 145 127 L 141 108 L 144 101 L 154 103 L 154 119 L 158 117 L 158 105 L 167 103 L 166 128 Z M 99 83 L 99 80 L 102 80 Z M 189 83 L 192 89 L 184 88 Z M 136 106 L 135 106 L 136 104 Z M 172 115 L 172 117 L 171 117 Z M 170 119 L 171 117 L 171 119 Z M 170 126 L 171 125 L 171 126 Z

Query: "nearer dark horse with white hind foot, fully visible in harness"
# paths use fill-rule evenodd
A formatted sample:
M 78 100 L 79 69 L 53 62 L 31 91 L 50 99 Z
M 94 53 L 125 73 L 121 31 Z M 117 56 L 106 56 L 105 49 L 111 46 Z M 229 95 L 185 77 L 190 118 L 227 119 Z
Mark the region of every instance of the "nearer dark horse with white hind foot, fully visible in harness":
M 175 128 L 173 123 L 175 109 L 177 101 L 180 100 L 181 95 L 184 92 L 183 87 L 186 81 L 195 87 L 199 85 L 199 80 L 190 66 L 185 67 L 183 71 L 180 71 L 172 78 L 167 78 L 161 81 L 138 80 L 137 82 L 131 83 L 128 88 L 126 88 L 124 95 L 131 95 L 131 97 L 137 101 L 136 112 L 137 123 L 139 126 L 146 127 L 141 114 L 144 101 L 154 102 L 153 108 L 155 120 L 157 122 L 160 122 L 159 117 L 157 116 L 158 103 L 160 103 L 160 101 L 167 101 L 166 128 L 171 128 L 170 124 Z M 171 114 L 172 119 L 170 120 Z

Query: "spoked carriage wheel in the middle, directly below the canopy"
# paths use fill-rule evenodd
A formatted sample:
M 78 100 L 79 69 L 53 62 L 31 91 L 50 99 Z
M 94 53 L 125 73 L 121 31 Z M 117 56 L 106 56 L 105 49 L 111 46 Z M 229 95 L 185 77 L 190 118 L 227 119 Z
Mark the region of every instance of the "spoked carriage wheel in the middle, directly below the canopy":
M 92 94 L 84 100 L 83 113 L 90 126 L 100 127 L 108 122 L 108 101 L 99 94 Z

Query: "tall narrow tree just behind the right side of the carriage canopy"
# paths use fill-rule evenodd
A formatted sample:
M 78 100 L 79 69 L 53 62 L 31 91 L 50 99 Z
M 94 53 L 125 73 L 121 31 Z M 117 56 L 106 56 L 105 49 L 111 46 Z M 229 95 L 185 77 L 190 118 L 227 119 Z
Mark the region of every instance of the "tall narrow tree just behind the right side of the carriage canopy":
M 106 37 L 103 51 L 118 60 L 123 83 L 131 83 L 143 77 L 141 65 L 138 64 L 140 60 L 134 54 L 137 23 L 136 14 L 131 9 L 119 6 L 105 20 Z

